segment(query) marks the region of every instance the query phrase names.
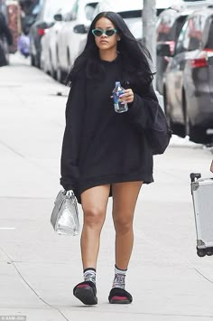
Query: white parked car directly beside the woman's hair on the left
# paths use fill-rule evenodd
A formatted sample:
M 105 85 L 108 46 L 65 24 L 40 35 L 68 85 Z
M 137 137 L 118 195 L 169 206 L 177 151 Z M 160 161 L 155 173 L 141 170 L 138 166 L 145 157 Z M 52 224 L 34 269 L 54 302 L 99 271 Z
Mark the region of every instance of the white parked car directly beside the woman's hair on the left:
M 86 39 L 88 26 L 91 24 L 97 1 L 76 0 L 72 9 L 64 17 L 58 35 L 58 66 L 57 79 L 63 80 L 70 66 L 79 54 L 80 43 Z M 58 15 L 58 20 L 62 20 Z

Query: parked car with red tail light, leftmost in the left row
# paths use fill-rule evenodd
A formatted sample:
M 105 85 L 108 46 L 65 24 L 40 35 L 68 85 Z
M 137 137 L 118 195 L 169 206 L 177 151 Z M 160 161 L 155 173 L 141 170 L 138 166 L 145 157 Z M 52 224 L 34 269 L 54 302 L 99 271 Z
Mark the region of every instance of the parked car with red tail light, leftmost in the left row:
M 32 66 L 40 67 L 42 36 L 45 33 L 45 29 L 50 28 L 54 24 L 53 16 L 60 10 L 64 1 L 67 0 L 43 0 L 42 9 L 36 16 L 29 33 Z

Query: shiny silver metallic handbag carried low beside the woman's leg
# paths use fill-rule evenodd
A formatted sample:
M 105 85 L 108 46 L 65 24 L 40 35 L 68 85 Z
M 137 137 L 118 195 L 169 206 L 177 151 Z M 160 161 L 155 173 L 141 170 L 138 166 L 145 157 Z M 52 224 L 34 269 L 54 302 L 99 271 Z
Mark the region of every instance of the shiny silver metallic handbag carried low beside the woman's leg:
M 51 212 L 51 225 L 60 235 L 79 234 L 79 211 L 73 191 L 60 191 Z

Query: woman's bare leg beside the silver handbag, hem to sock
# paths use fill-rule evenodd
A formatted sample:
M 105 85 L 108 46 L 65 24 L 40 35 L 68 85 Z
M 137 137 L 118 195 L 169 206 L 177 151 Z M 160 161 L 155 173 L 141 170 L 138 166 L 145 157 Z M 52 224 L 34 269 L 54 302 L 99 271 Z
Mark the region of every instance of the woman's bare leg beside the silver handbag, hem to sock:
M 81 194 L 84 224 L 81 234 L 81 256 L 83 269 L 97 267 L 100 232 L 106 218 L 106 205 L 110 185 L 89 188 Z

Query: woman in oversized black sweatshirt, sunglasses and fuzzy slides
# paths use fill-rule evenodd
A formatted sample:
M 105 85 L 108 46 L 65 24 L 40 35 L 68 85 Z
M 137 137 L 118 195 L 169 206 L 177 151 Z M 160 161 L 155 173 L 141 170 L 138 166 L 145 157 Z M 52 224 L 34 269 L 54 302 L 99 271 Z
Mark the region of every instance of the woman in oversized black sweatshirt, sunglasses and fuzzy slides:
M 116 268 L 108 299 L 112 304 L 133 300 L 125 290 L 125 274 L 134 242 L 134 207 L 142 184 L 153 182 L 153 153 L 144 129 L 150 121 L 147 109 L 159 106 L 144 52 L 119 14 L 97 14 L 86 47 L 69 73 L 60 184 L 74 191 L 84 212 L 84 281 L 73 293 L 86 305 L 97 304 L 97 254 L 109 196 Z M 121 114 L 115 112 L 112 99 L 117 80 L 125 87 L 120 100 L 128 104 Z

